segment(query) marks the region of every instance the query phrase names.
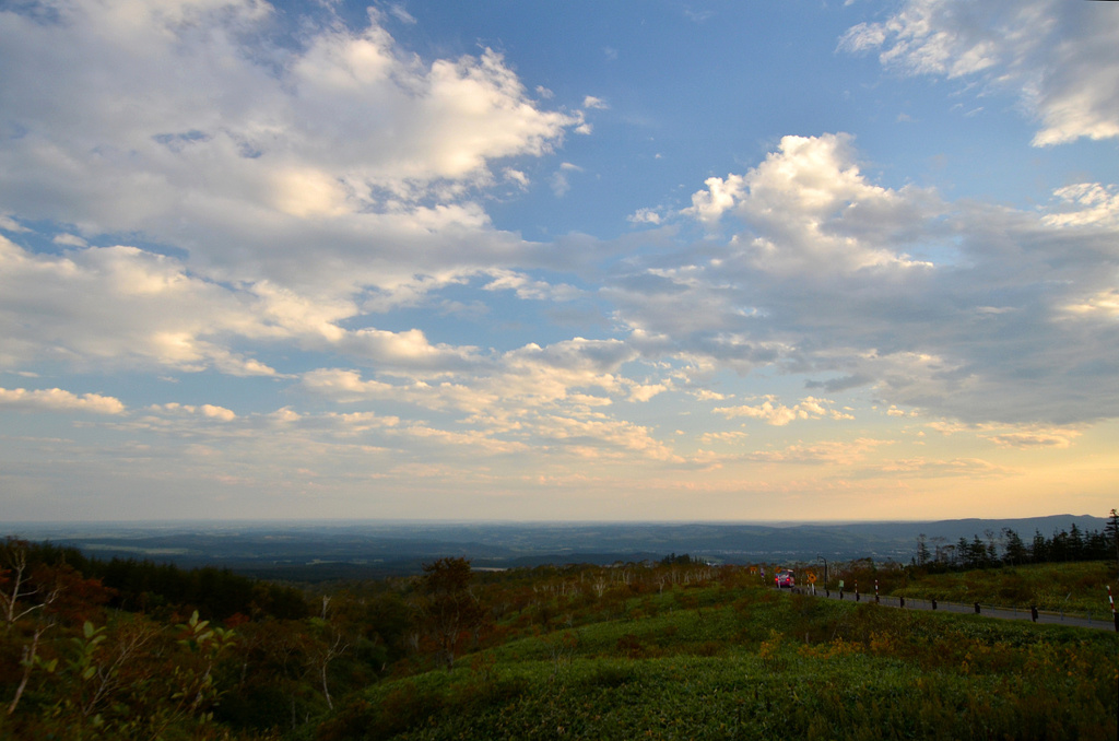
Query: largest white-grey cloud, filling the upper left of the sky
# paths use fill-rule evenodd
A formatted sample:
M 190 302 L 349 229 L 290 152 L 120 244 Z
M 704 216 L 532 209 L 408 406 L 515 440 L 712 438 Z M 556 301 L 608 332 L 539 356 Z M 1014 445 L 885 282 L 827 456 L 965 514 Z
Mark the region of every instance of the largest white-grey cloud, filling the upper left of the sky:
M 514 158 L 582 123 L 500 54 L 421 60 L 378 13 L 295 38 L 255 0 L 38 7 L 55 20 L 0 11 L 0 110 L 22 132 L 0 147 L 4 213 L 143 234 L 225 282 L 318 301 L 501 262 L 519 240 L 474 194 L 498 162 L 525 185 Z

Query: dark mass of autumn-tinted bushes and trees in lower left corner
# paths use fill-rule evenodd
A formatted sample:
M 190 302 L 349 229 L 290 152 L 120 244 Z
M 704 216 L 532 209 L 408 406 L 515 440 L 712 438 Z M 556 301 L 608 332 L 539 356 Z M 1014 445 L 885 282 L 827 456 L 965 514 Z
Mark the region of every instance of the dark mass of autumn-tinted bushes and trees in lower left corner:
M 278 738 L 395 664 L 408 609 L 8 538 L 0 738 Z

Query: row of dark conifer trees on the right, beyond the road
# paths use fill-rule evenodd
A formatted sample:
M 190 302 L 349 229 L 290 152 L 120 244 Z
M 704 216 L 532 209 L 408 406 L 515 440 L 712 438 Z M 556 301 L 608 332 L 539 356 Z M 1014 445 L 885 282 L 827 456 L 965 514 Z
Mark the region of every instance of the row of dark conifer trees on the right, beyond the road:
M 1002 553 L 999 552 L 1002 551 Z M 990 569 L 1027 563 L 1062 561 L 1119 561 L 1119 514 L 1115 509 L 1102 531 L 1081 531 L 1075 523 L 1068 531 L 1045 537 L 1041 531 L 1026 542 L 1009 527 L 996 534 L 988 529 L 949 543 L 944 537 L 918 535 L 913 564 L 929 571 Z

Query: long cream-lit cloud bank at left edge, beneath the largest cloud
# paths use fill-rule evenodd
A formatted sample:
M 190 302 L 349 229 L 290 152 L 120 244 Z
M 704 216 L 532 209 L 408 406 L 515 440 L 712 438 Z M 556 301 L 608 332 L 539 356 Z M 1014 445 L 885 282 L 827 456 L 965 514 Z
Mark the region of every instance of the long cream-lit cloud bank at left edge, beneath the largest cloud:
M 574 293 L 527 279 L 518 284 L 521 298 Z M 308 297 L 270 281 L 229 285 L 204 280 L 173 257 L 135 247 L 44 255 L 0 236 L 0 329 L 6 337 L 0 367 L 62 359 L 77 367 L 154 365 L 278 375 L 267 364 L 231 349 L 245 341 L 257 347 L 293 341 L 385 370 L 438 374 L 476 362 L 477 348 L 432 344 L 420 329 L 341 326 L 357 312 L 347 299 Z

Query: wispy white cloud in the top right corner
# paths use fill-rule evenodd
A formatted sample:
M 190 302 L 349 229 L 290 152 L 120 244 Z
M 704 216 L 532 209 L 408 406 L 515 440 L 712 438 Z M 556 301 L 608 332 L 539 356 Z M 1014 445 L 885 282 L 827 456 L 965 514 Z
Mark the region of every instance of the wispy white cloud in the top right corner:
M 878 50 L 903 74 L 1016 94 L 1043 147 L 1119 137 L 1117 35 L 1119 16 L 1104 2 L 906 0 L 887 20 L 848 29 L 839 48 Z

